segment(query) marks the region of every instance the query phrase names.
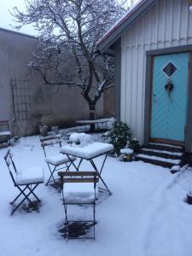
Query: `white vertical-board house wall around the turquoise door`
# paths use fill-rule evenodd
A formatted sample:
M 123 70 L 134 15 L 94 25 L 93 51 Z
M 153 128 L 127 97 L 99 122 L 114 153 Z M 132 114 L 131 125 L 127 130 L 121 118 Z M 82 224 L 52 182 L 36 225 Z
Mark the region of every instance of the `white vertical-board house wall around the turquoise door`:
M 146 51 L 192 44 L 189 0 L 160 0 L 121 37 L 120 119 L 143 143 Z

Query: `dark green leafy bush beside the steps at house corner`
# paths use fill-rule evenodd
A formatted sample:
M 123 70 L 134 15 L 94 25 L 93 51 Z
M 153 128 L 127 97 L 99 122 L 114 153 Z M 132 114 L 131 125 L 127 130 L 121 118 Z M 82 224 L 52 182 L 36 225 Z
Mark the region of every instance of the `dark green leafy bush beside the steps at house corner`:
M 130 147 L 134 151 L 137 151 L 139 146 L 138 140 L 136 138 L 131 138 L 130 126 L 119 122 L 114 126 L 113 131 L 109 131 L 105 136 L 108 138 L 108 142 L 113 144 L 114 153 L 119 155 L 121 148 Z

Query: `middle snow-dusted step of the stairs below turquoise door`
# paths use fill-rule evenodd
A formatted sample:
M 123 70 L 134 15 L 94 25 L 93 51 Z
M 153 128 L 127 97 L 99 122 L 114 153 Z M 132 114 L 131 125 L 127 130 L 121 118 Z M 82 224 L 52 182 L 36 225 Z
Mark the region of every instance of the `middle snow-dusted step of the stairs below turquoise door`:
M 183 157 L 182 152 L 172 152 L 168 150 L 160 150 L 160 149 L 154 149 L 154 148 L 141 148 L 140 153 L 159 156 L 161 158 L 166 158 L 166 159 L 176 159 L 176 160 L 182 159 Z

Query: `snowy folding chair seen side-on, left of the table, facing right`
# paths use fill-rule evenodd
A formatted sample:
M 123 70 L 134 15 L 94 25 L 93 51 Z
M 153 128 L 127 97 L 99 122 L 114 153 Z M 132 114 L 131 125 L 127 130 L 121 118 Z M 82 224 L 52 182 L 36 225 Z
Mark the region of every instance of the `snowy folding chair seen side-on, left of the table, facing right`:
M 11 215 L 14 214 L 24 201 L 28 201 L 32 204 L 32 200 L 29 198 L 30 195 L 33 195 L 38 202 L 41 202 L 38 199 L 38 196 L 34 193 L 34 189 L 36 189 L 40 183 L 44 183 L 44 173 L 42 168 L 30 167 L 23 171 L 18 171 L 13 160 L 13 155 L 10 153 L 10 149 L 5 154 L 4 160 L 8 166 L 9 174 L 15 187 L 20 190 L 20 194 L 15 197 L 14 201 L 10 202 L 10 204 L 13 205 Z M 18 201 L 22 195 L 24 198 L 14 207 L 14 203 Z

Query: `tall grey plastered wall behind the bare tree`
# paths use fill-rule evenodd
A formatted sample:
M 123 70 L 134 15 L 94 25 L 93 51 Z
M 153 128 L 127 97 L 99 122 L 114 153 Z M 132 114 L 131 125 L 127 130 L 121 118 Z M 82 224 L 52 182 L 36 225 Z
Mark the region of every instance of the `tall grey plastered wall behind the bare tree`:
M 48 86 L 38 73 L 27 67 L 37 46 L 35 38 L 0 29 L 0 120 L 8 119 L 15 136 L 38 131 L 38 125 L 74 125 L 77 119 L 89 118 L 88 104 L 79 88 Z M 29 118 L 16 118 L 11 84 L 28 83 L 31 103 Z M 20 93 L 20 90 L 17 90 Z M 23 92 L 24 93 L 24 92 Z M 103 114 L 103 98 L 96 105 L 97 117 Z

